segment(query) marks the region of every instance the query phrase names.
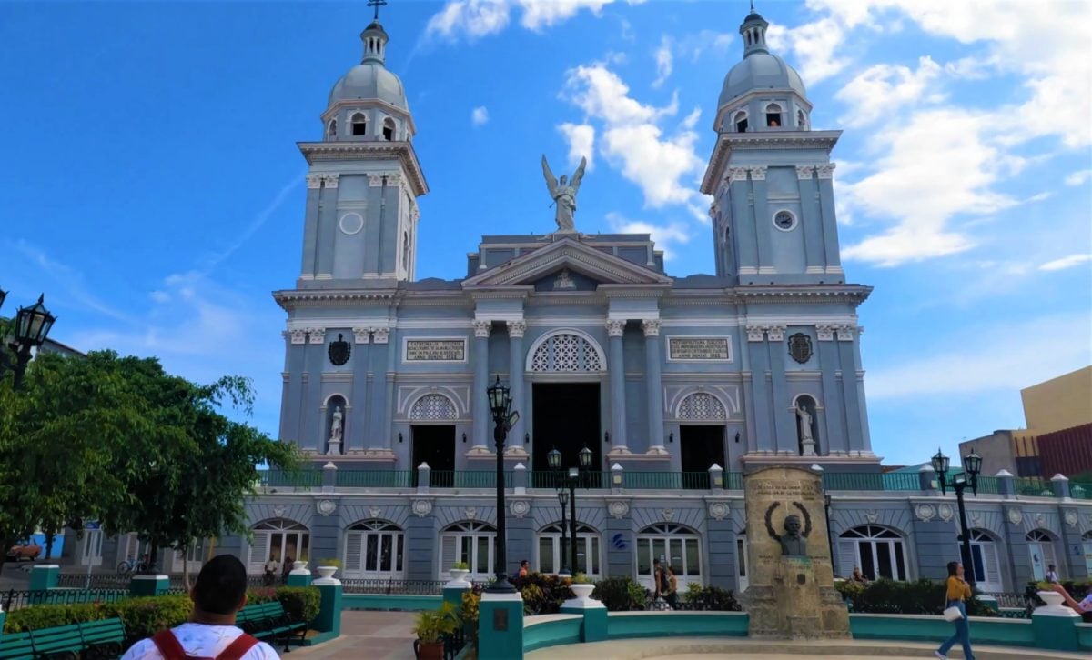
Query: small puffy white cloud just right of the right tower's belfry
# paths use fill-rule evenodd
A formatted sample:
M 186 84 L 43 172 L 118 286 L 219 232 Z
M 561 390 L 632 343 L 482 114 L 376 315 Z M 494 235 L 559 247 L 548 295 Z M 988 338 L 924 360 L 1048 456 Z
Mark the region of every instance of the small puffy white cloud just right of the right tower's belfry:
M 918 60 L 917 70 L 893 64 L 875 64 L 857 74 L 834 97 L 848 106 L 841 121 L 863 127 L 890 118 L 900 107 L 923 100 L 937 103 L 942 95 L 926 94 L 927 86 L 940 74 L 940 65 L 928 56 Z

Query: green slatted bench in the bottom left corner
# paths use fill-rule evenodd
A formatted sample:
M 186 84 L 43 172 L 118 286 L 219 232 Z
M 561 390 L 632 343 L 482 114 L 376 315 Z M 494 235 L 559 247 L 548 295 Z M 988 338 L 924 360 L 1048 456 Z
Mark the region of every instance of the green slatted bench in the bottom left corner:
M 126 640 L 120 619 L 73 623 L 0 636 L 0 660 L 117 658 Z

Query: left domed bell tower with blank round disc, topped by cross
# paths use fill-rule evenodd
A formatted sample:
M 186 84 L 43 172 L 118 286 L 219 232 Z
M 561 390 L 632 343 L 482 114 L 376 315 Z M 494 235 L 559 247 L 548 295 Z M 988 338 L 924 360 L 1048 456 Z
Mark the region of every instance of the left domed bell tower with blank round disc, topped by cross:
M 390 37 L 379 23 L 380 4 L 369 2 L 376 15 L 360 33 L 360 63 L 330 92 L 322 140 L 298 144 L 309 166 L 301 288 L 416 276 L 417 197 L 428 185 L 413 148 L 405 88 L 385 67 Z

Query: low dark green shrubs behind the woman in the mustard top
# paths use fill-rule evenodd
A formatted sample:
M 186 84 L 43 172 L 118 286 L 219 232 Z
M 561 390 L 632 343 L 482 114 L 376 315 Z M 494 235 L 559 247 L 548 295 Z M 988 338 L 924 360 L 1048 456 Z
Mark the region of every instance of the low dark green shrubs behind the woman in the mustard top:
M 913 581 L 895 581 L 887 578 L 862 584 L 846 580 L 834 587 L 848 601 L 853 611 L 870 614 L 940 614 L 945 609 L 943 581 L 922 578 Z M 987 607 L 977 596 L 966 601 L 970 616 L 996 616 L 997 611 Z

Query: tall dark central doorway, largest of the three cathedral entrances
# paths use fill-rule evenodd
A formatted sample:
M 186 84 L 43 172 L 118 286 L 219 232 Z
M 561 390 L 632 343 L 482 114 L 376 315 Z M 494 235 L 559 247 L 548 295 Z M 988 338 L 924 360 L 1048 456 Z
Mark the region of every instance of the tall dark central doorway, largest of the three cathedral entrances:
M 592 465 L 582 477 L 580 488 L 601 488 L 603 454 L 600 447 L 600 384 L 598 383 L 535 383 L 533 475 L 535 488 L 556 485 L 548 473 L 546 454 L 557 448 L 561 453 L 561 471 L 580 466 L 579 452 L 585 446 L 592 451 Z

